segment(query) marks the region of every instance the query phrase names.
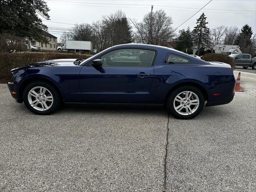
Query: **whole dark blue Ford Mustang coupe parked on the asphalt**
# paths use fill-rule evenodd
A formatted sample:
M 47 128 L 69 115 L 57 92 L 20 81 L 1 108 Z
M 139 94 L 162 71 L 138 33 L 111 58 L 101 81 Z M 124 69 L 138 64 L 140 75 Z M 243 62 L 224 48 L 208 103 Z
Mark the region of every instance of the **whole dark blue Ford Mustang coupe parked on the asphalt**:
M 12 97 L 36 114 L 60 103 L 165 105 L 190 119 L 234 97 L 230 65 L 205 62 L 174 49 L 145 44 L 108 48 L 86 60 L 58 59 L 12 69 Z

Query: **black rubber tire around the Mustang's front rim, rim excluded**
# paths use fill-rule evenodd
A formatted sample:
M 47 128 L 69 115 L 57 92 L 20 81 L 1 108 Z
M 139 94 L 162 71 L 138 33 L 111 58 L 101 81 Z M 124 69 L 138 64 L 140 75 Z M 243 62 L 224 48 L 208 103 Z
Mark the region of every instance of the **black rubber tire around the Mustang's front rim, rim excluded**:
M 43 111 L 37 110 L 37 109 L 33 108 L 30 105 L 29 101 L 28 101 L 28 93 L 30 92 L 30 90 L 32 88 L 35 88 L 35 87 L 38 87 L 38 86 L 46 88 L 52 94 L 52 98 L 53 98 L 52 105 L 47 110 L 43 110 Z M 32 111 L 33 113 L 38 114 L 38 115 L 48 115 L 48 114 L 51 114 L 51 113 L 55 112 L 56 110 L 58 110 L 58 108 L 60 107 L 60 95 L 59 95 L 58 91 L 56 90 L 56 88 L 54 86 L 52 86 L 51 84 L 49 84 L 47 82 L 35 81 L 35 82 L 29 83 L 24 88 L 22 96 L 23 96 L 23 101 L 24 101 L 25 106 L 30 111 Z M 41 106 L 41 104 L 39 106 Z

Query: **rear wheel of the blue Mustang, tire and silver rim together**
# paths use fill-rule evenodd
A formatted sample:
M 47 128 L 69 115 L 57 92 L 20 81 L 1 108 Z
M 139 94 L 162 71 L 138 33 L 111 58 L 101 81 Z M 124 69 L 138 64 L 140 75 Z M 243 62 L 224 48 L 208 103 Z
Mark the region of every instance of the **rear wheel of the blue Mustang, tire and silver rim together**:
M 183 86 L 175 89 L 167 101 L 168 111 L 176 118 L 191 119 L 204 108 L 202 92 L 193 86 Z

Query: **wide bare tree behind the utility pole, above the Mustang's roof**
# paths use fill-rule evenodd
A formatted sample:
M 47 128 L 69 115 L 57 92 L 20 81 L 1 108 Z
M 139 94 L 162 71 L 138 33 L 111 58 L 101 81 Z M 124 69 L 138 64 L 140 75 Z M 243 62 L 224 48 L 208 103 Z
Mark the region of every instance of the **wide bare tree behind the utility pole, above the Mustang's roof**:
M 159 45 L 161 41 L 167 41 L 172 37 L 172 18 L 166 15 L 164 10 L 157 10 L 146 14 L 142 22 L 131 20 L 137 29 L 134 41 L 144 44 Z

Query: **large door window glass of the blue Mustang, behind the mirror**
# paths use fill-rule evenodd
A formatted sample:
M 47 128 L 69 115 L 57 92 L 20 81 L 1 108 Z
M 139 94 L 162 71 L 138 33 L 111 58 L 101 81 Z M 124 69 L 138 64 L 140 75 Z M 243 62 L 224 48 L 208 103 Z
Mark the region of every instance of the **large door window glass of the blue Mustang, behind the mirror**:
M 101 56 L 103 66 L 149 67 L 156 52 L 145 49 L 118 49 Z

